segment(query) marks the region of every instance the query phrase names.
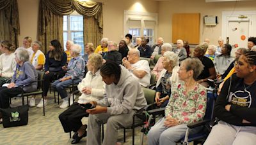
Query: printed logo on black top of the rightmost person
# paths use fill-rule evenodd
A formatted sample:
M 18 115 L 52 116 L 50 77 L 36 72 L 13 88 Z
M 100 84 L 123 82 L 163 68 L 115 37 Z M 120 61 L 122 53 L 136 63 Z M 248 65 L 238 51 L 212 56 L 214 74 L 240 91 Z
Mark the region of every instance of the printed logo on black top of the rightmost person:
M 241 107 L 250 107 L 252 105 L 252 95 L 248 90 L 237 90 L 230 93 L 229 102 Z

